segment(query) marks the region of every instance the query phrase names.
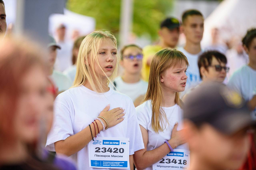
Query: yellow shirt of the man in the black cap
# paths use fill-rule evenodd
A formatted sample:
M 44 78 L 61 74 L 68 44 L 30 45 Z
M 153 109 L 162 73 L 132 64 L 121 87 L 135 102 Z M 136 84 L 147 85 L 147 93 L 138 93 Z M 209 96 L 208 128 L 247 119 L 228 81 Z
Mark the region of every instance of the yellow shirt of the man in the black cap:
M 150 66 L 147 65 L 147 60 L 149 57 L 154 56 L 157 51 L 162 50 L 163 48 L 159 45 L 148 45 L 143 48 L 143 59 L 142 59 L 142 79 L 146 82 L 148 82 L 149 79 L 149 72 L 150 72 Z

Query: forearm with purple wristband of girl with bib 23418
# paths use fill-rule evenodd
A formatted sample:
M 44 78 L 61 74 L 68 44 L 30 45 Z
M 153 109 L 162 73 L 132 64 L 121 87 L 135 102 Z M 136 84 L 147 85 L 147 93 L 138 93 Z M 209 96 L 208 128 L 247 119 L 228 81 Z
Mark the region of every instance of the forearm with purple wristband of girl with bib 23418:
M 169 140 L 168 142 L 173 149 L 177 147 L 175 142 L 173 142 L 172 140 Z M 138 170 L 145 169 L 161 160 L 170 152 L 170 148 L 166 143 L 164 143 L 156 149 L 146 151 L 144 153 L 142 152 L 143 151 L 140 150 L 135 152 L 134 154 L 134 164 Z M 141 162 L 143 162 L 143 164 Z

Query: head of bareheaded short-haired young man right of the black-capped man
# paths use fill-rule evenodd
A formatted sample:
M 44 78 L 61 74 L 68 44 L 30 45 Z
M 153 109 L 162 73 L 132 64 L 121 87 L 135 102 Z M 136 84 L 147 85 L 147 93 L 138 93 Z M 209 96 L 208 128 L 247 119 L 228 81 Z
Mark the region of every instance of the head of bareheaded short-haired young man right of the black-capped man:
M 187 42 L 200 44 L 204 33 L 204 17 L 200 11 L 190 9 L 183 13 L 182 31 Z

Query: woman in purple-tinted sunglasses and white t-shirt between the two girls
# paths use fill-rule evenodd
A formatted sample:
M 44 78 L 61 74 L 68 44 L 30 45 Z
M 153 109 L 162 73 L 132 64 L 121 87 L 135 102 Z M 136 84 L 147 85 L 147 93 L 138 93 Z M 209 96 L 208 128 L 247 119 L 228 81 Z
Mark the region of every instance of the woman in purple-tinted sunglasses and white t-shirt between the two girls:
M 113 84 L 115 90 L 129 96 L 137 107 L 147 92 L 148 83 L 141 79 L 142 49 L 134 44 L 126 45 L 121 50 L 120 64 L 124 68 L 121 76 Z

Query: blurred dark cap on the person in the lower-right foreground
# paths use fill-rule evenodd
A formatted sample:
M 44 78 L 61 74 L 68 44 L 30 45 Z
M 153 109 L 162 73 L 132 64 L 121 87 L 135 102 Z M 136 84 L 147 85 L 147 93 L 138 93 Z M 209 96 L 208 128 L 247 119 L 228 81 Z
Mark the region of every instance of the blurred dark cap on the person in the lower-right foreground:
M 184 119 L 197 126 L 208 123 L 228 135 L 256 126 L 246 101 L 237 92 L 217 82 L 201 84 L 187 95 Z

